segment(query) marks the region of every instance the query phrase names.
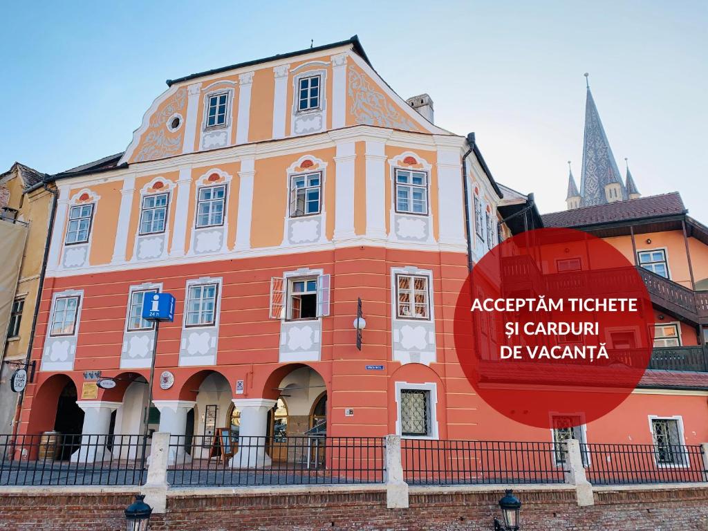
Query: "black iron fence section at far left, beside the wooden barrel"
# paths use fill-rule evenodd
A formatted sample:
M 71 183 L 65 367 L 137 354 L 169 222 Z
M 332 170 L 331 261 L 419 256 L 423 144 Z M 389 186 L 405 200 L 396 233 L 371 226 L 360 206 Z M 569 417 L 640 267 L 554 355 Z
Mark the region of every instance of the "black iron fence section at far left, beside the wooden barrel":
M 139 485 L 143 435 L 0 435 L 0 485 Z

